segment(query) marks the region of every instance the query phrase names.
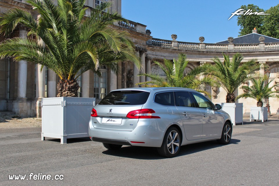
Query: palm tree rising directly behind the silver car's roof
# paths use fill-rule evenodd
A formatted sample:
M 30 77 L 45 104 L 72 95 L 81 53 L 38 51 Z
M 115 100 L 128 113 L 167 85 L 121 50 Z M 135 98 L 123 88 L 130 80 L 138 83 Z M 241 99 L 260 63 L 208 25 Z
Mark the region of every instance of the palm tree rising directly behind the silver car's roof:
M 184 70 L 188 65 L 187 56 L 185 54 L 179 54 L 178 60 L 173 61 L 164 59 L 163 62 L 154 61 L 156 65 L 164 71 L 166 77 L 160 77 L 158 74 L 146 74 L 140 73 L 139 76 L 149 77 L 151 80 L 143 83 L 137 83 L 137 85 L 143 87 L 184 87 L 197 90 L 198 92 L 205 91 L 205 86 L 216 86 L 216 81 L 209 77 L 198 79 L 198 75 L 205 72 L 205 66 L 195 67 L 188 74 L 184 75 Z

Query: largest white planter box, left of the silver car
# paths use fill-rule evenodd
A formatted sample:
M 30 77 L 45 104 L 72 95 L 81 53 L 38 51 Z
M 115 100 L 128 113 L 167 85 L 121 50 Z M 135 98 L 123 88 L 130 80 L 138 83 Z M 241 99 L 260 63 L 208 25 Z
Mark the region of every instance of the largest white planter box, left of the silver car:
M 95 98 L 55 97 L 42 99 L 42 140 L 89 137 L 88 123 Z

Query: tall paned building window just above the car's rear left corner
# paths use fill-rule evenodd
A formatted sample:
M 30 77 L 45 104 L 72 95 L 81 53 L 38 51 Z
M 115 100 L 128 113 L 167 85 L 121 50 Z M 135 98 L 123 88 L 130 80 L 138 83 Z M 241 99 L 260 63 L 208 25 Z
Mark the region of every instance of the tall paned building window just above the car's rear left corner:
M 101 77 L 94 73 L 94 98 L 96 99 L 103 99 L 107 95 L 107 71 L 100 69 L 100 72 Z

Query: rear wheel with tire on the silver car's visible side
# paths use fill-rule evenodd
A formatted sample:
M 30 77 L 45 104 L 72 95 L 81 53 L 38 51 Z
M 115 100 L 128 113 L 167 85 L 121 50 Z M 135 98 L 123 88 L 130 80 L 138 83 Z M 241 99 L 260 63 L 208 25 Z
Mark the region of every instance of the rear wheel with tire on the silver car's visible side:
M 167 158 L 175 157 L 179 153 L 181 140 L 181 134 L 176 127 L 168 128 L 158 153 Z

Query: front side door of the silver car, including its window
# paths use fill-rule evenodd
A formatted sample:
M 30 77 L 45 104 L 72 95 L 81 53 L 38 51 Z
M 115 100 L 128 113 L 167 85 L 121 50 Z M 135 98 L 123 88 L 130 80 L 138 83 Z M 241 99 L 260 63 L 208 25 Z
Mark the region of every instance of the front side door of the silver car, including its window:
M 215 105 L 202 94 L 191 92 L 203 119 L 202 138 L 217 137 L 221 135 L 224 119 L 220 112 L 215 110 Z

